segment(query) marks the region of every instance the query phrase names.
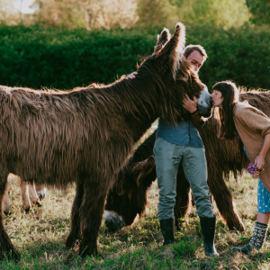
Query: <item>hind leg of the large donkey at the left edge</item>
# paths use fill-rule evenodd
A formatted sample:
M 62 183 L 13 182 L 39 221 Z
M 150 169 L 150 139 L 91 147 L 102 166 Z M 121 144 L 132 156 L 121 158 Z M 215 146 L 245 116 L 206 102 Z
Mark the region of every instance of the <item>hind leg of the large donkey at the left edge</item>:
M 14 245 L 12 244 L 9 236 L 7 235 L 4 224 L 3 224 L 3 211 L 2 211 L 2 202 L 4 199 L 4 191 L 6 188 L 8 171 L 6 167 L 0 164 L 0 258 L 4 259 L 4 255 L 8 259 L 20 259 L 19 253 L 14 249 Z

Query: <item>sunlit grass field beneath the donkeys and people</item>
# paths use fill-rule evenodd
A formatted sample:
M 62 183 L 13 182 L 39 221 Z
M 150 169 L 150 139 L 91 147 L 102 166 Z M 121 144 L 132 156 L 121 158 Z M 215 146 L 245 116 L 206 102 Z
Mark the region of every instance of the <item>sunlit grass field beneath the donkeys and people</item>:
M 148 209 L 131 228 L 109 233 L 102 224 L 98 238 L 99 255 L 82 259 L 76 248 L 69 250 L 65 240 L 74 187 L 67 193 L 50 190 L 43 207 L 23 212 L 19 188 L 14 182 L 11 191 L 12 214 L 4 223 L 21 261 L 0 263 L 0 269 L 269 269 L 270 237 L 260 251 L 244 256 L 233 253 L 232 247 L 246 244 L 253 232 L 257 213 L 257 180 L 248 175 L 228 183 L 246 226 L 245 232 L 229 231 L 218 217 L 216 248 L 220 257 L 204 256 L 199 218 L 193 208 L 189 227 L 176 232 L 175 244 L 162 247 L 157 220 L 157 183 L 148 193 Z M 216 210 L 215 210 L 216 211 Z

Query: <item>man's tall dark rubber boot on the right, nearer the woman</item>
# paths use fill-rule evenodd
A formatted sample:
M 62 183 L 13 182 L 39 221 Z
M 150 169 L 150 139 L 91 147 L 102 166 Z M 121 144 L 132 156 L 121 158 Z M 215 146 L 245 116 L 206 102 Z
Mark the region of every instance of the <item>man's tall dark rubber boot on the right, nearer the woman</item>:
M 205 255 L 207 257 L 219 256 L 214 244 L 216 216 L 214 215 L 212 218 L 200 217 L 200 221 Z

